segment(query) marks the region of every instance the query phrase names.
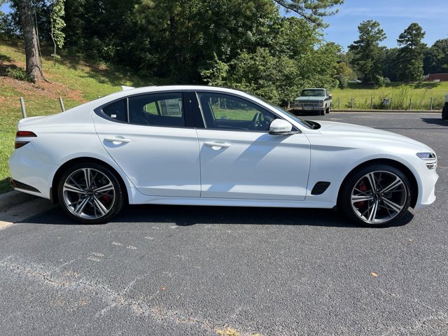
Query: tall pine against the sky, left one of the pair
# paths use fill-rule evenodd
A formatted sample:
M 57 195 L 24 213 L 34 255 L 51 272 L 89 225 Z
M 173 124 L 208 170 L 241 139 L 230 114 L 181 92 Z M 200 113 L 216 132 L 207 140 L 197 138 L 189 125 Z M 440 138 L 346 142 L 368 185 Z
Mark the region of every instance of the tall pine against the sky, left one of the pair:
M 367 20 L 358 26 L 359 38 L 349 45 L 353 54 L 351 65 L 363 76 L 363 81 L 379 83 L 381 81 L 381 57 L 384 47 L 379 43 L 384 41 L 386 34 L 379 22 Z

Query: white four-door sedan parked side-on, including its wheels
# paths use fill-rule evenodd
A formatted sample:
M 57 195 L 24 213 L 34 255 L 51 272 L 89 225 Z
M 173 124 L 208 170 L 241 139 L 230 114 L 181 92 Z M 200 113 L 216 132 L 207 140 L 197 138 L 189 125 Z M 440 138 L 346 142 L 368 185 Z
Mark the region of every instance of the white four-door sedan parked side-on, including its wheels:
M 435 200 L 434 151 L 368 127 L 304 121 L 247 92 L 141 87 L 20 120 L 16 190 L 104 223 L 123 204 L 342 210 L 366 225 Z

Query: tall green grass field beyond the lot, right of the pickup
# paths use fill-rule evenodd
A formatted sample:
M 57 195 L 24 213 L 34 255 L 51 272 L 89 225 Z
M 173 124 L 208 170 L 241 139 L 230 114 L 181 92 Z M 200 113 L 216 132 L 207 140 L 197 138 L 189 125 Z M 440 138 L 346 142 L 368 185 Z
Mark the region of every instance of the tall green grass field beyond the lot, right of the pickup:
M 384 98 L 392 99 L 392 109 L 409 110 L 409 99 L 412 98 L 413 110 L 429 110 L 430 99 L 433 97 L 433 110 L 442 110 L 444 95 L 448 94 L 448 82 L 422 82 L 415 84 L 388 83 L 385 87 L 374 87 L 358 83 L 349 83 L 344 90 L 335 89 L 332 92 L 333 107 L 337 109 L 340 99 L 341 109 L 370 109 L 372 97 L 374 109 L 388 109 L 390 106 L 381 104 Z

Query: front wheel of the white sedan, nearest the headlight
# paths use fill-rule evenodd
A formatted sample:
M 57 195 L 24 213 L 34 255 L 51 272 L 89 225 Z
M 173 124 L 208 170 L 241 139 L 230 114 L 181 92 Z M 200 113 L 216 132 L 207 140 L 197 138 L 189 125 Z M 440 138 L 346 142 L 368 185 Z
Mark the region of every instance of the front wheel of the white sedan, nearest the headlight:
M 369 165 L 344 180 L 338 201 L 339 209 L 352 221 L 385 226 L 398 221 L 407 212 L 411 202 L 409 179 L 395 167 Z

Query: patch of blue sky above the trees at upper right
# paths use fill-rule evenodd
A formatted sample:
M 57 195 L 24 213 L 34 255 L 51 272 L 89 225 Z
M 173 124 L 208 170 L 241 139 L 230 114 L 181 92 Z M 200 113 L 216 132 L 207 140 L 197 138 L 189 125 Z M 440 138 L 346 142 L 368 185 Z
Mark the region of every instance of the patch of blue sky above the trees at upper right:
M 325 18 L 330 27 L 323 32 L 326 41 L 347 46 L 358 39 L 358 25 L 377 20 L 387 38 L 381 43 L 398 47 L 397 38 L 412 22 L 418 23 L 426 36 L 423 42 L 433 45 L 448 38 L 448 0 L 345 0 L 339 12 Z

